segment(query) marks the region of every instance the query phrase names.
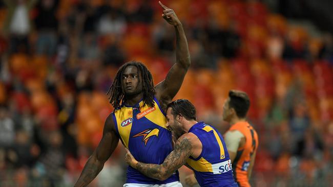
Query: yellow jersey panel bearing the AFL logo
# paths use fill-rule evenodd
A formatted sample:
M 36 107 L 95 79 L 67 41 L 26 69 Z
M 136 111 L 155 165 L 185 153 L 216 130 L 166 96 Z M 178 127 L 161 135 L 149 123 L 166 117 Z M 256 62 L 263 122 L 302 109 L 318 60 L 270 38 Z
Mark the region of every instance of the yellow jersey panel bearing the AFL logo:
M 129 107 L 122 107 L 119 110 L 116 110 L 114 112 L 117 120 L 117 127 L 118 127 L 118 132 L 121 137 L 121 140 L 126 148 L 129 147 L 129 139 L 130 139 L 130 133 L 132 129 L 132 122 L 133 122 L 133 108 Z M 131 119 L 132 122 L 130 124 L 122 125 L 122 123 L 127 119 Z M 125 119 L 124 121 L 121 121 L 120 119 Z

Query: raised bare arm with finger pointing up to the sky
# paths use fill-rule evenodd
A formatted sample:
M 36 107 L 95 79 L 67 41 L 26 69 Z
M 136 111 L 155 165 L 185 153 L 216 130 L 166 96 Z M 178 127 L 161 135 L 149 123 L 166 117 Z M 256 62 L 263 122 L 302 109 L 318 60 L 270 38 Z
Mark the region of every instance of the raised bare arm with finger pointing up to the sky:
M 176 63 L 171 67 L 165 80 L 156 85 L 156 97 L 161 104 L 163 110 L 166 110 L 166 105 L 176 96 L 186 72 L 191 64 L 188 41 L 186 40 L 183 26 L 178 19 L 174 10 L 164 6 L 162 17 L 175 27 L 176 31 Z

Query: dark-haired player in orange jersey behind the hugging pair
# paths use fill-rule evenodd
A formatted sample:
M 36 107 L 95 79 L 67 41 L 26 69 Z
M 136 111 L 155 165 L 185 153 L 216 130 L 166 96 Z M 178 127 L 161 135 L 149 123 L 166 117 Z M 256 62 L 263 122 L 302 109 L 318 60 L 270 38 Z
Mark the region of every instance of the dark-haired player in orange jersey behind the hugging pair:
M 251 186 L 249 179 L 258 148 L 256 130 L 246 121 L 250 102 L 243 91 L 231 90 L 223 105 L 223 120 L 231 124 L 224 141 L 233 163 L 235 180 L 239 186 Z M 185 179 L 189 185 L 196 183 L 194 176 Z

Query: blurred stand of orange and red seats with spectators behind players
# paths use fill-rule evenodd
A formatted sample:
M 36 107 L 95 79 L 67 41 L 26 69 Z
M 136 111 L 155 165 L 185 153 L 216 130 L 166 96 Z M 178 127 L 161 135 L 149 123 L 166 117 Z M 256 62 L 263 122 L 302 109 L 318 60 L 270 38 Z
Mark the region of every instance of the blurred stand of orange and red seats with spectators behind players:
M 0 186 L 73 186 L 113 110 L 118 67 L 142 61 L 161 81 L 175 61 L 158 1 L 0 4 Z M 192 66 L 175 99 L 224 133 L 228 90 L 246 91 L 260 146 L 253 186 L 333 183 L 333 39 L 311 36 L 260 1 L 163 1 L 177 11 Z M 118 146 L 91 186 L 122 186 Z M 180 169 L 181 181 L 190 173 Z

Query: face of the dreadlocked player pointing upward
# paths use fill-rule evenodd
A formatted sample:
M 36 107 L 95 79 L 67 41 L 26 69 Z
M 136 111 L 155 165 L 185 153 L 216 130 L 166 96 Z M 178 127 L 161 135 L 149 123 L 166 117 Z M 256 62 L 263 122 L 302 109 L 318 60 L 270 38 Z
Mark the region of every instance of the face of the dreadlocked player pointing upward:
M 142 92 L 142 81 L 139 81 L 139 71 L 136 66 L 127 66 L 122 74 L 122 87 L 125 96 L 134 96 Z M 140 77 L 140 80 L 141 77 Z

